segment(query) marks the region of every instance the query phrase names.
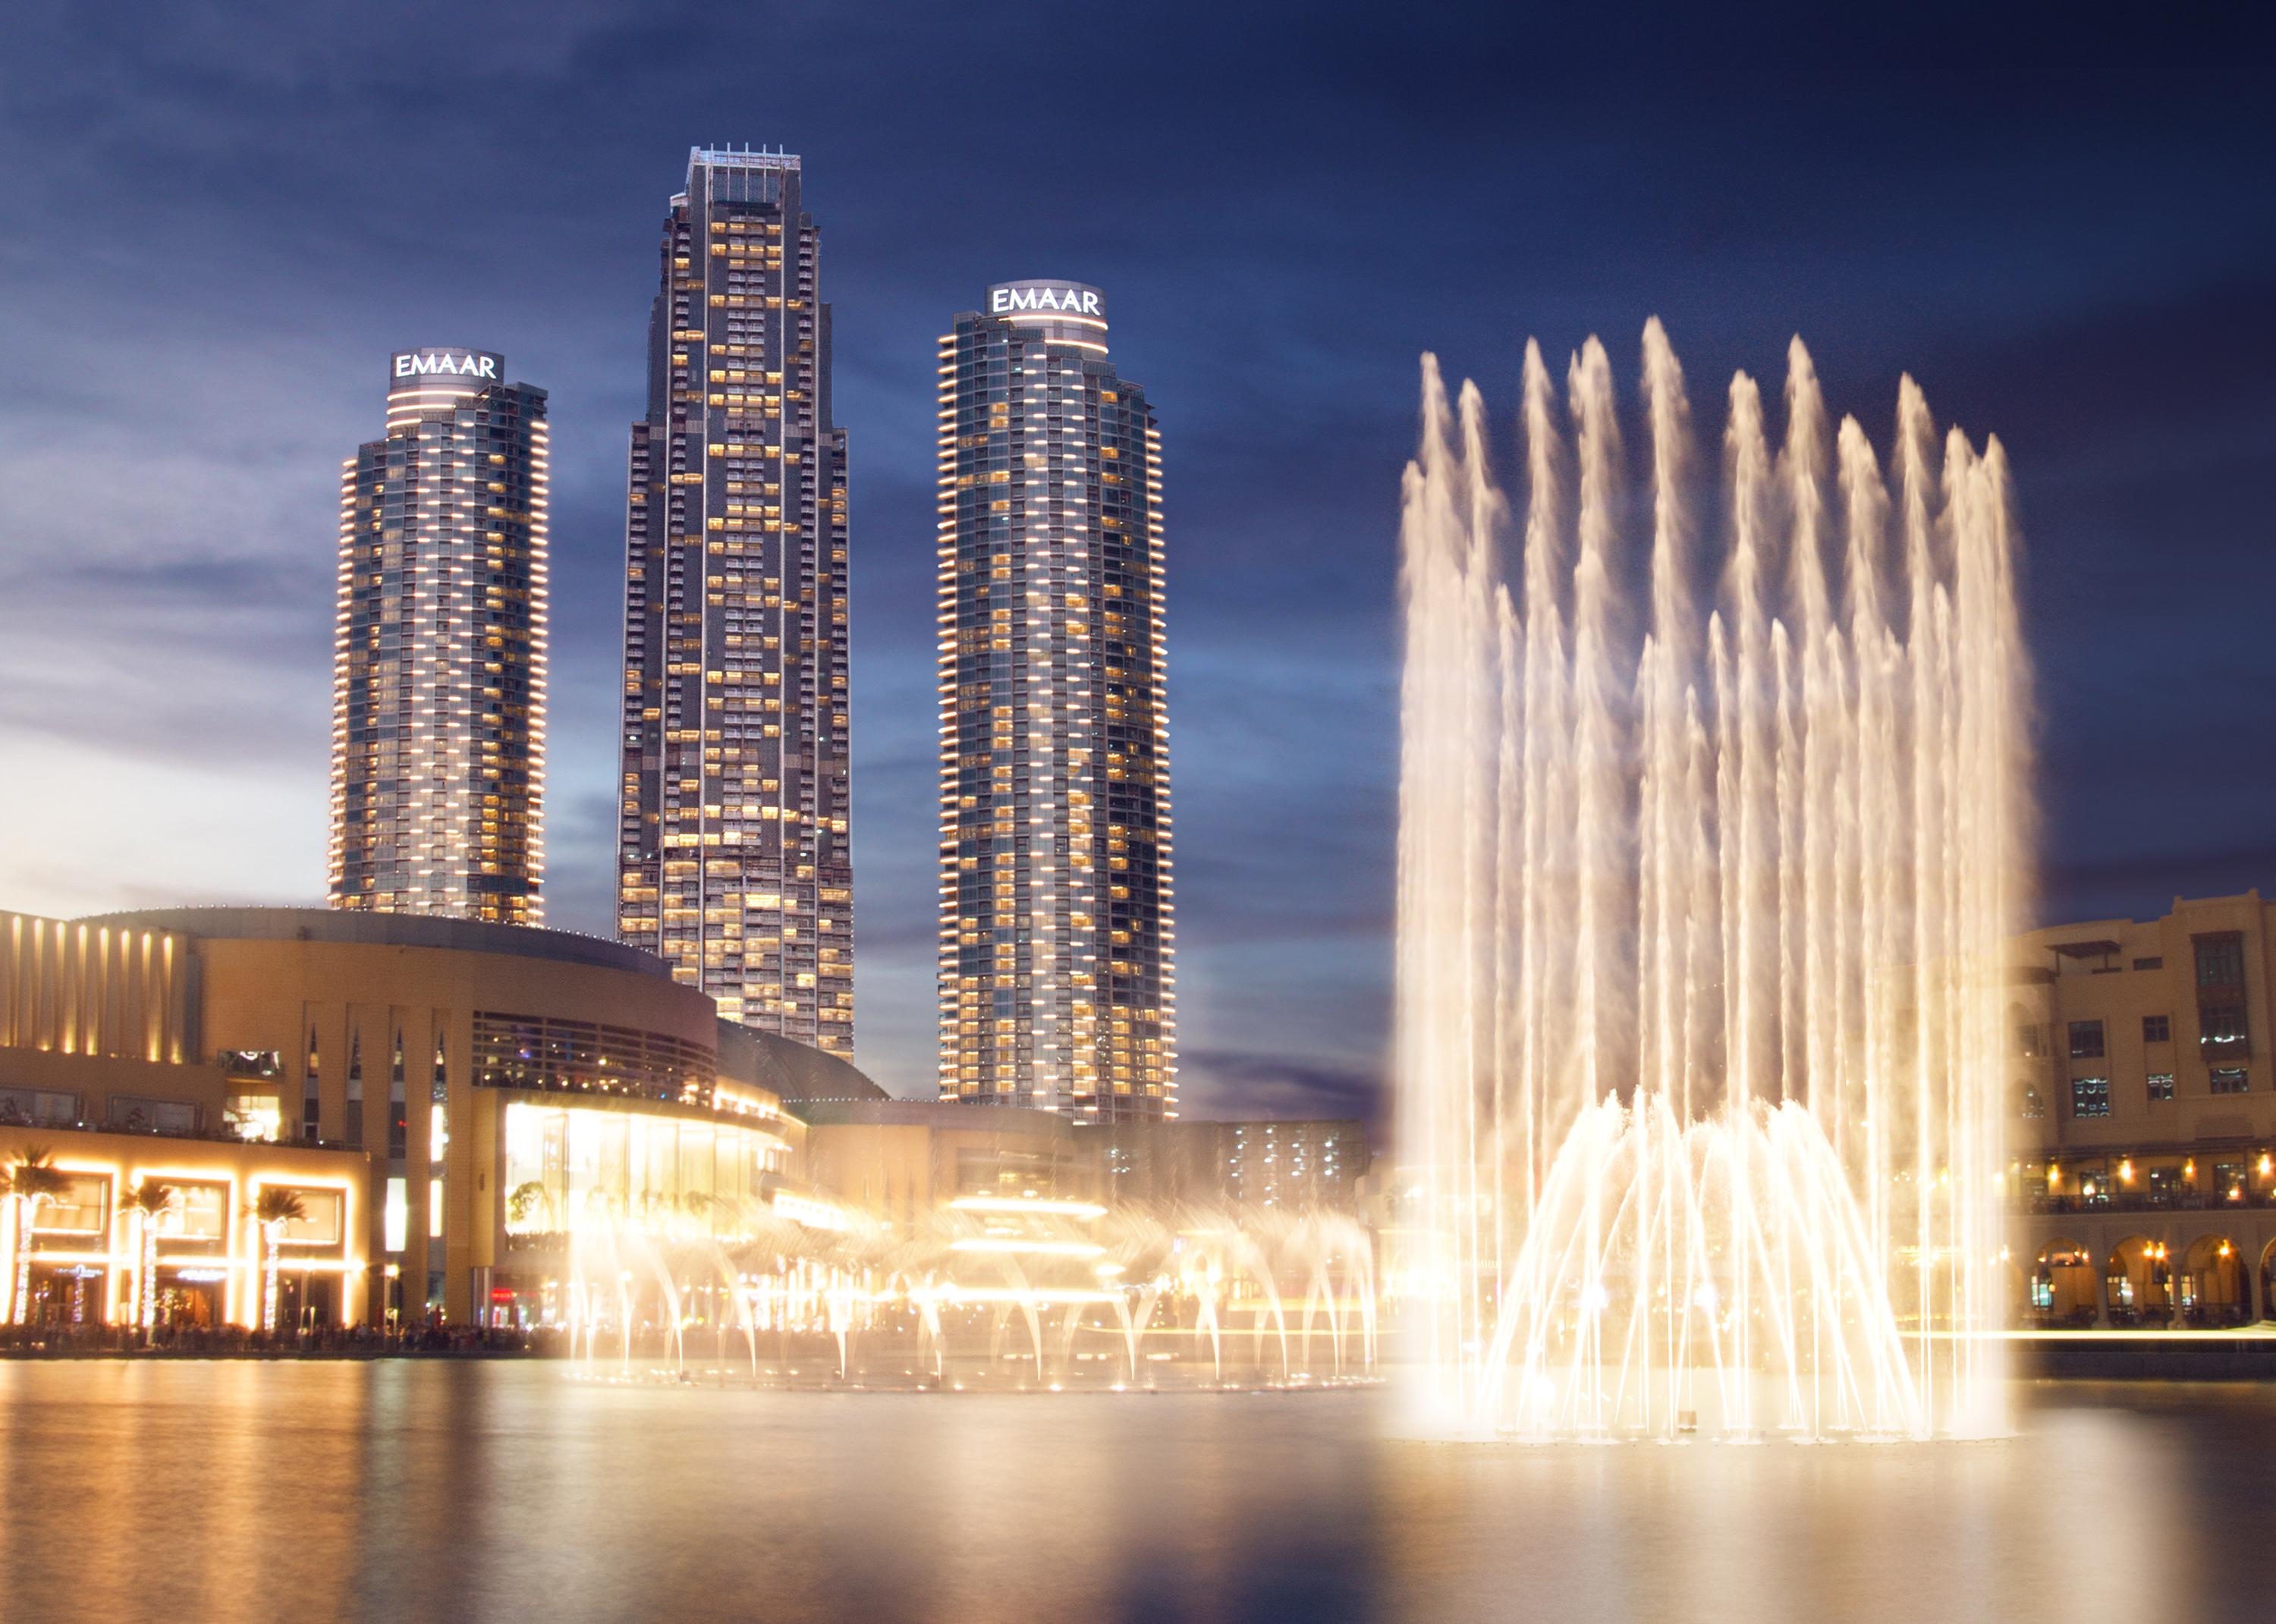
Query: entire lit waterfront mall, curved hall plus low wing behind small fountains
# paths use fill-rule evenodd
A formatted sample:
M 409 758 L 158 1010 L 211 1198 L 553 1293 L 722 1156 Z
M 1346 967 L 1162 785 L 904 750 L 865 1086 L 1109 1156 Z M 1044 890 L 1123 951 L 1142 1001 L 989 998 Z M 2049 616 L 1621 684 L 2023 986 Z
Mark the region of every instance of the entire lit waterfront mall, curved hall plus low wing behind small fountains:
M 1218 1128 L 1234 1151 L 1202 1146 Z M 61 1183 L 0 1201 L 0 1260 L 25 1262 L 0 1324 L 162 1328 L 564 1326 L 671 1294 L 662 1319 L 703 1324 L 958 1203 L 1354 1210 L 1366 1171 L 1361 1124 L 1133 1137 L 899 1101 L 642 948 L 296 908 L 0 914 L 0 1171 L 27 1153 Z M 262 1224 L 269 1190 L 298 1215 Z M 744 1267 L 781 1278 L 703 1278 Z M 658 1301 L 596 1308 L 619 1278 Z

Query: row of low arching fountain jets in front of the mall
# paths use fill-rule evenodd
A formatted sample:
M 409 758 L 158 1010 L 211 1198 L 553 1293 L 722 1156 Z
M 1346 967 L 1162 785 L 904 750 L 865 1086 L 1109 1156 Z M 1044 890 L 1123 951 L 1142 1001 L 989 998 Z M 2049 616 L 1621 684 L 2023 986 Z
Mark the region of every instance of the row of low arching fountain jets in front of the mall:
M 967 1194 L 899 1224 L 781 1196 L 530 1203 L 542 1324 L 585 1376 L 767 1385 L 1309 1387 L 1375 1374 L 1345 1212 Z

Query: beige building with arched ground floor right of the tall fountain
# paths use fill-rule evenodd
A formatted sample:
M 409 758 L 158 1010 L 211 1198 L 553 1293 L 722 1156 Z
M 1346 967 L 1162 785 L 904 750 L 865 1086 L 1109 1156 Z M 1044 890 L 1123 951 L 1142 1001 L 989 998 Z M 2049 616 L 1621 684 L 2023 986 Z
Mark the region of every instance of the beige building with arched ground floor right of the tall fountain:
M 2271 921 L 2246 892 L 2019 939 L 2010 1174 L 2028 1319 L 2276 1317 Z

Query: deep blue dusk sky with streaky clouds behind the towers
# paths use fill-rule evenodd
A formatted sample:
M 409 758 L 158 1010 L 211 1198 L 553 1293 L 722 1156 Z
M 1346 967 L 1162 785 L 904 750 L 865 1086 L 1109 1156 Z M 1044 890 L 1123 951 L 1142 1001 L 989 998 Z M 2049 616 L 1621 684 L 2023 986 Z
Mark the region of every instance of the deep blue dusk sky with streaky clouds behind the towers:
M 2265 43 L 1591 14 L 18 11 L 0 908 L 321 901 L 339 459 L 389 348 L 460 343 L 551 391 L 549 923 L 610 933 L 626 430 L 694 143 L 803 155 L 824 234 L 858 1060 L 899 1094 L 933 1076 L 933 339 L 1008 277 L 1106 289 L 1161 416 L 1190 1115 L 1382 1083 L 1422 350 L 1504 457 L 1529 334 L 1559 371 L 1602 334 L 1632 409 L 1657 314 L 1718 425 L 1800 332 L 1882 446 L 1910 371 L 2017 466 L 2039 921 L 2276 887 Z

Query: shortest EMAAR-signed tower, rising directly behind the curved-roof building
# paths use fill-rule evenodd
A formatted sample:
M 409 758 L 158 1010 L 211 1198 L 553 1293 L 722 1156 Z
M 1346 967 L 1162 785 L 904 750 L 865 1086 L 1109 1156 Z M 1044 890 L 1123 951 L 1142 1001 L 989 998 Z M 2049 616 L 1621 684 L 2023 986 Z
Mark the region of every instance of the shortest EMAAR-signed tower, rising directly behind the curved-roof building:
M 544 917 L 546 391 L 487 350 L 387 359 L 339 473 L 332 908 Z

